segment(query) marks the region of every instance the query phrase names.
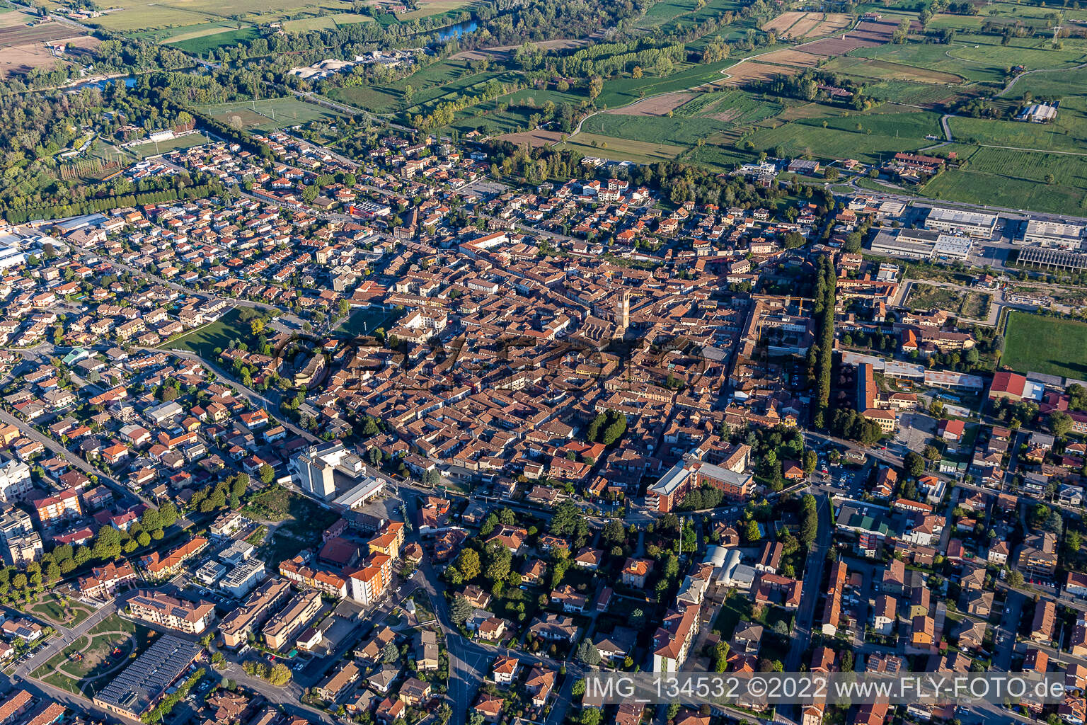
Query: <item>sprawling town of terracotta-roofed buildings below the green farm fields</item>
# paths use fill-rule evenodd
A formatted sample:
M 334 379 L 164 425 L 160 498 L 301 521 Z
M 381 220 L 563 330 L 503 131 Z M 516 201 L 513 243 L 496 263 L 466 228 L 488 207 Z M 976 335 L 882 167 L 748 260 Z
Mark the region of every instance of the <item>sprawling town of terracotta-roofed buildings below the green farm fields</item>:
M 0 238 L 0 722 L 1084 722 L 1084 220 L 253 138 Z M 601 670 L 1065 696 L 596 708 Z

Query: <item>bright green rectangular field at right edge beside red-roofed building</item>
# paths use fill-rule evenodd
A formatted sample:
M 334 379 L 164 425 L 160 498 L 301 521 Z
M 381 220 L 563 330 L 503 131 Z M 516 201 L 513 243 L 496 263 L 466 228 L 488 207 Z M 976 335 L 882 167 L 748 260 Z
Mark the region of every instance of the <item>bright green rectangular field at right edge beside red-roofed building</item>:
M 1010 311 L 1000 363 L 1021 373 L 1087 378 L 1087 324 Z

